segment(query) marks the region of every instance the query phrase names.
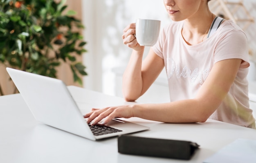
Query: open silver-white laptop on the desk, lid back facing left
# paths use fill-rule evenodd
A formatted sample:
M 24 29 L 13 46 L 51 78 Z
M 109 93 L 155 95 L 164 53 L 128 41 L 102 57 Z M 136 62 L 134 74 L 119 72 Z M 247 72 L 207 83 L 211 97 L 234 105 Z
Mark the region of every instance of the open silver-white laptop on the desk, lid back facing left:
M 35 119 L 41 123 L 91 140 L 149 129 L 147 126 L 113 119 L 104 126 L 105 129 L 99 130 L 102 125 L 93 126 L 92 132 L 92 126 L 83 118 L 63 81 L 13 68 L 7 68 L 7 72 Z

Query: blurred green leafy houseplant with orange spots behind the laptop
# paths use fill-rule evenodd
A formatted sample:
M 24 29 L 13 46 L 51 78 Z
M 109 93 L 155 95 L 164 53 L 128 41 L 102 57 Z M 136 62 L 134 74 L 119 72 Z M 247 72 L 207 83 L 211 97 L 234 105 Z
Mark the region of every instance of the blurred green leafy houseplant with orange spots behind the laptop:
M 64 61 L 82 84 L 87 73 L 76 56 L 86 52 L 84 26 L 66 8 L 65 0 L 0 0 L 0 64 L 56 78 Z

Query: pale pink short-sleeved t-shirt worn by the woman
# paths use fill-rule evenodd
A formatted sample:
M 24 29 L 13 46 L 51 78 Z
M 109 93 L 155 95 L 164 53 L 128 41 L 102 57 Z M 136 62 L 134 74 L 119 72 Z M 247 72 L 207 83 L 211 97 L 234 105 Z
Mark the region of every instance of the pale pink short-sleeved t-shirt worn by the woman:
M 183 22 L 171 22 L 153 46 L 155 53 L 164 59 L 171 101 L 193 99 L 216 62 L 243 59 L 229 93 L 209 118 L 255 128 L 249 109 L 249 54 L 245 33 L 233 21 L 226 20 L 207 40 L 188 45 L 181 34 L 182 26 Z

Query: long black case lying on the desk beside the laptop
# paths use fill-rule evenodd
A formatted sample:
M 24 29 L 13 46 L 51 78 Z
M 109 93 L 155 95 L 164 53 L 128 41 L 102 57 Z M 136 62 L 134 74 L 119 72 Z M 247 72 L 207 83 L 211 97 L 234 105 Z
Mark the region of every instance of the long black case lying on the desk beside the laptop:
M 118 152 L 142 156 L 189 160 L 199 145 L 191 141 L 154 139 L 122 135 L 118 137 Z

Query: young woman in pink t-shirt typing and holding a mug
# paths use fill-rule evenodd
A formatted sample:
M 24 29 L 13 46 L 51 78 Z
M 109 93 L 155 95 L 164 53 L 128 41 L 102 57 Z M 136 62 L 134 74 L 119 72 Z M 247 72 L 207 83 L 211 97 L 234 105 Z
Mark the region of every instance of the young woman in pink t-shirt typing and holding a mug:
M 143 60 L 135 24 L 124 29 L 124 44 L 132 54 L 123 76 L 123 95 L 135 101 L 166 69 L 171 102 L 92 109 L 88 123 L 114 117 L 140 117 L 166 123 L 204 122 L 208 118 L 255 128 L 249 109 L 249 55 L 245 33 L 231 20 L 216 17 L 210 0 L 164 0 L 173 20 Z M 218 18 L 216 20 L 216 18 Z M 219 23 L 211 31 L 213 23 Z M 218 24 L 217 24 L 218 25 Z M 143 61 L 142 61 L 143 60 Z

